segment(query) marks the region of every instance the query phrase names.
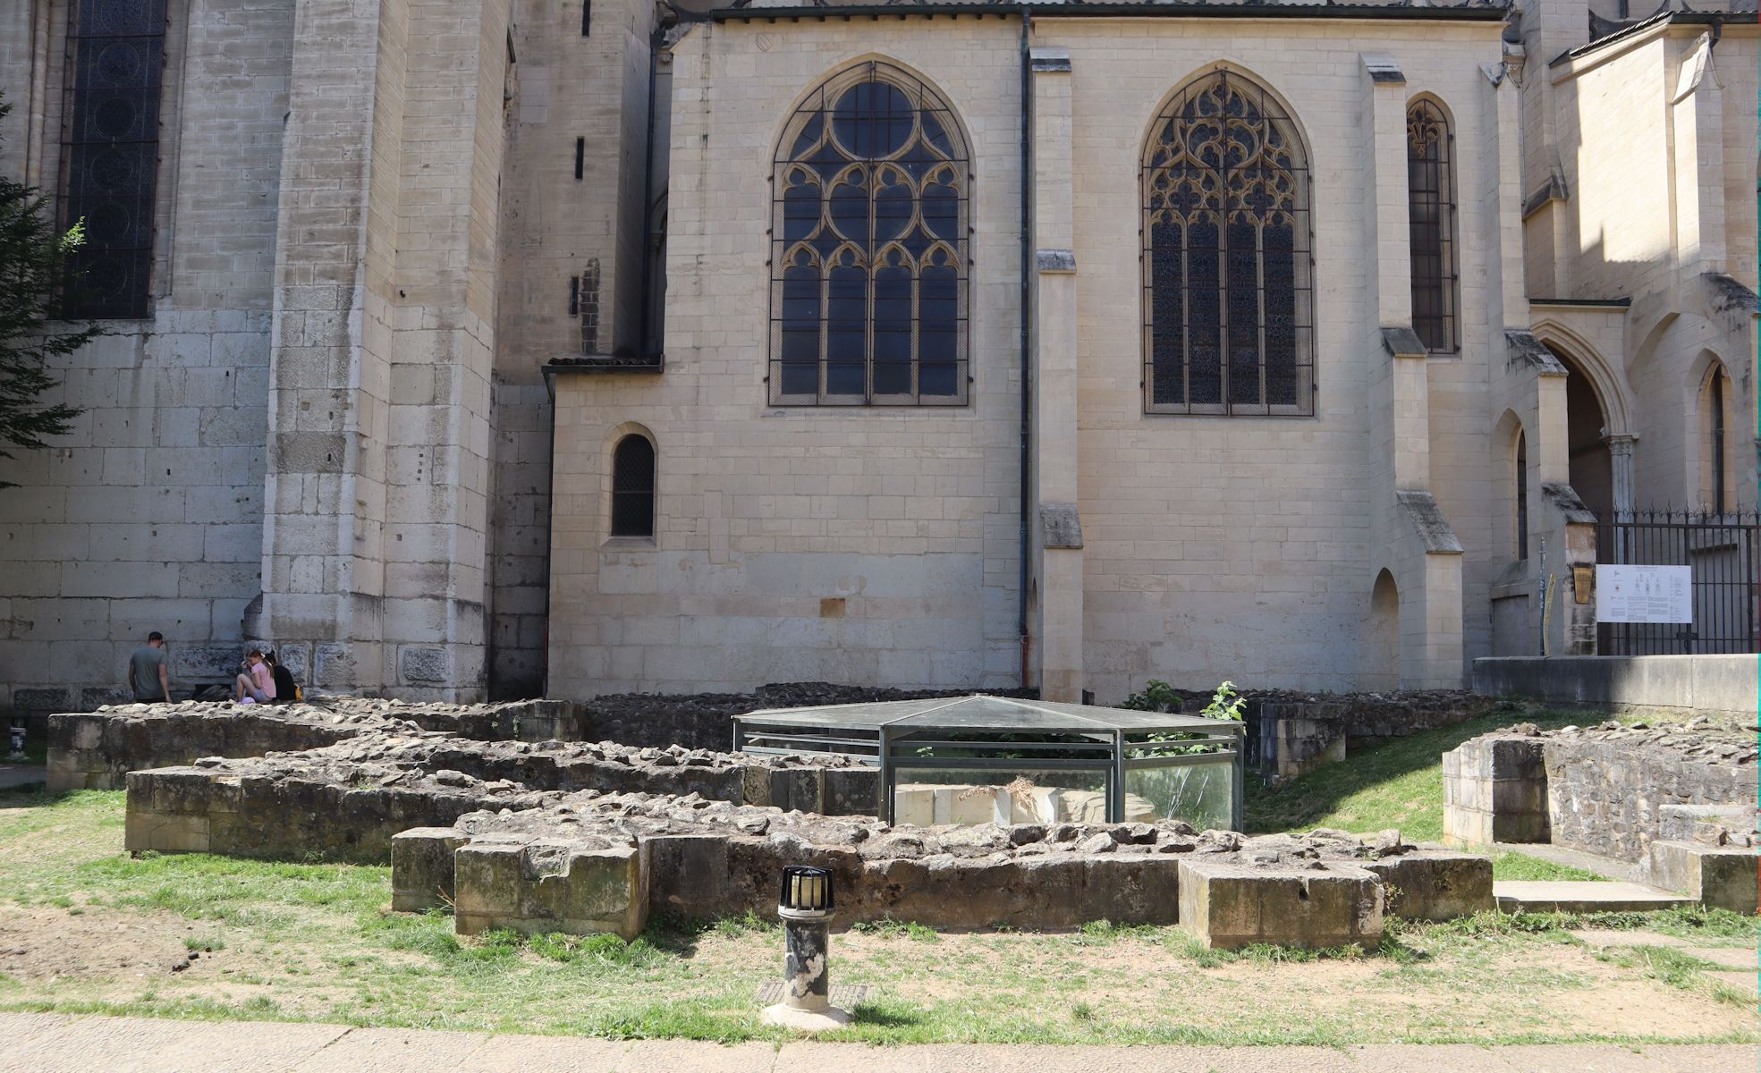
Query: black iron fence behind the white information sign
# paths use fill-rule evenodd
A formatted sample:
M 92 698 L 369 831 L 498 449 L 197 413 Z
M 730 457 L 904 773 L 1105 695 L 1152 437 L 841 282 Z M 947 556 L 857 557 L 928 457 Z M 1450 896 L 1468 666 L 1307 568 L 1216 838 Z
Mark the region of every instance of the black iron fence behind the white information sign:
M 1595 525 L 1595 562 L 1692 567 L 1692 622 L 1603 622 L 1603 655 L 1761 652 L 1754 511 L 1629 511 Z

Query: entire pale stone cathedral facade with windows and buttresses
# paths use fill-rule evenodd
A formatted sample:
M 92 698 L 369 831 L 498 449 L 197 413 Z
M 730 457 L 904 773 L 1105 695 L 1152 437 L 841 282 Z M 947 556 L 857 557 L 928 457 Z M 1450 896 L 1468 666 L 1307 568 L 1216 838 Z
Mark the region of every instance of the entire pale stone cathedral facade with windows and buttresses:
M 0 164 L 113 335 L 0 470 L 0 689 L 1594 652 L 1599 518 L 1756 506 L 1728 7 L 16 5 Z

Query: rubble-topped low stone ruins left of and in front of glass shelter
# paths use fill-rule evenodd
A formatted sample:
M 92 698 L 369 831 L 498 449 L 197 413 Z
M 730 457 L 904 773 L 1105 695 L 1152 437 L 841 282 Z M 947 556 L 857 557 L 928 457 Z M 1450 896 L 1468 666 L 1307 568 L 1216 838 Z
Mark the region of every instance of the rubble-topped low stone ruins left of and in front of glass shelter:
M 851 699 L 763 699 L 778 696 Z M 51 717 L 49 781 L 125 786 L 132 853 L 389 862 L 393 907 L 453 906 L 461 934 L 634 937 L 652 916 L 770 913 L 791 863 L 833 872 L 844 921 L 1180 923 L 1224 948 L 1374 944 L 1384 916 L 1493 904 L 1485 856 L 1398 832 L 1367 842 L 1178 819 L 974 823 L 1007 796 L 981 784 L 942 788 L 967 823 L 889 825 L 872 765 L 708 747 L 717 728 L 731 738 L 733 699 L 660 721 L 692 745 L 592 740 L 634 722 L 593 705 L 122 705 Z

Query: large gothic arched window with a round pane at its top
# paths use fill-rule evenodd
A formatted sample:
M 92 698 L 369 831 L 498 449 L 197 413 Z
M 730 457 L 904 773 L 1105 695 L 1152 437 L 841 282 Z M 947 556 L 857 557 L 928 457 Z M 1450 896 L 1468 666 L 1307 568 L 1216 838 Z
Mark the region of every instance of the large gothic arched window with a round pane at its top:
M 801 102 L 771 174 L 773 403 L 967 402 L 970 185 L 953 111 L 896 67 Z

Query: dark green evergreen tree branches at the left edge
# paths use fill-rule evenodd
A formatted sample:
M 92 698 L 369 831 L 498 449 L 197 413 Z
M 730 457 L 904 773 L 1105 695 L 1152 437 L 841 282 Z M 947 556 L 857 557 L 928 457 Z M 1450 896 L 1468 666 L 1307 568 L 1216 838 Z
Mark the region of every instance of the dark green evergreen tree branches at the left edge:
M 0 123 L 11 111 L 0 93 Z M 0 174 L 0 458 L 46 448 L 48 437 L 72 428 L 81 411 L 39 402 L 60 382 L 49 363 L 106 335 L 97 324 L 70 324 L 58 315 L 67 255 L 85 241 L 85 227 L 58 233 L 48 204 L 35 187 Z M 0 479 L 0 488 L 12 486 Z

